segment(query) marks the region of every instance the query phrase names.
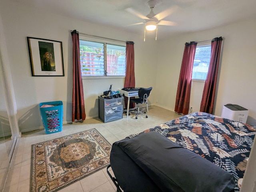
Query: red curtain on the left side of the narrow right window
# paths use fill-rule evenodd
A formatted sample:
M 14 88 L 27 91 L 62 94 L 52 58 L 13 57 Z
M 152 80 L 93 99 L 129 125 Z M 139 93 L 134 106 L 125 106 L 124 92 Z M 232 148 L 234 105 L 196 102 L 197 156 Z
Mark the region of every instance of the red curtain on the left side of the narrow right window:
M 180 69 L 180 78 L 178 83 L 174 111 L 177 113 L 182 113 L 184 115 L 188 114 L 189 110 L 192 69 L 196 54 L 196 44 L 196 42 L 190 42 L 185 44 Z

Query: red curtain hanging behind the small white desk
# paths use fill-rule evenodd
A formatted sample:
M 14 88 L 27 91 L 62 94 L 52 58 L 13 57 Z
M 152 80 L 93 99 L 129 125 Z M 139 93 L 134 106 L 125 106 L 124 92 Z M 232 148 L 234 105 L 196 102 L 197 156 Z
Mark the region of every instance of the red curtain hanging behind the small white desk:
M 124 87 L 135 87 L 135 75 L 134 75 L 134 42 L 126 42 L 126 75 L 124 79 Z M 128 98 L 124 98 L 125 107 L 127 109 Z M 135 107 L 134 103 L 130 103 L 129 108 Z

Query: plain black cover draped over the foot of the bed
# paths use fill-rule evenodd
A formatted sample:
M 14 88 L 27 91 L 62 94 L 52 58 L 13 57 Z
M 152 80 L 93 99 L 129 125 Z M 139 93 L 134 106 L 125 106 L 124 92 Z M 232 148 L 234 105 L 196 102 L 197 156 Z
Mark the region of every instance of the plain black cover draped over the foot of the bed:
M 110 164 L 125 192 L 231 192 L 235 188 L 232 174 L 157 132 L 115 142 Z

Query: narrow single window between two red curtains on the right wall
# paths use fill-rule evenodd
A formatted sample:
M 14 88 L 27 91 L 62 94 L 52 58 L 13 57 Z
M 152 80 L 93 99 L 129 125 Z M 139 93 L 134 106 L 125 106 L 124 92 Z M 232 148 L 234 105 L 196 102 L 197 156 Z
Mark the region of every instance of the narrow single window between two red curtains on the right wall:
M 197 46 L 193 63 L 192 79 L 206 80 L 211 56 L 211 45 Z

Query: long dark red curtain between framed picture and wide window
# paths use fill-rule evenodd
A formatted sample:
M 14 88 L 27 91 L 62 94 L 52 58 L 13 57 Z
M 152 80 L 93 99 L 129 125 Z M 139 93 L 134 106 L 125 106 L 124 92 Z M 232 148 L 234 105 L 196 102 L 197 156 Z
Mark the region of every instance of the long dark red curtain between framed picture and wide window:
M 72 122 L 85 120 L 84 88 L 80 66 L 79 34 L 76 30 L 71 32 L 73 41 L 73 92 L 72 92 Z

